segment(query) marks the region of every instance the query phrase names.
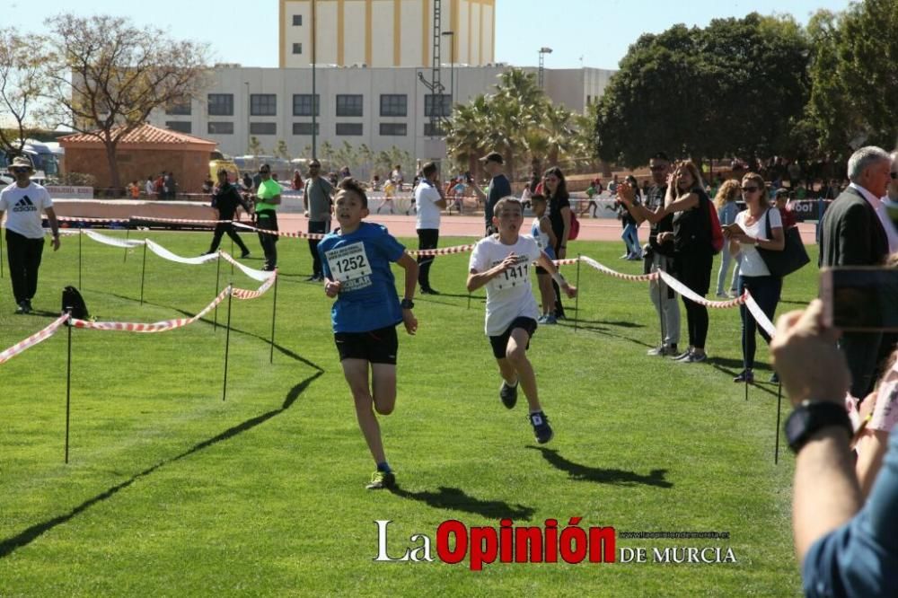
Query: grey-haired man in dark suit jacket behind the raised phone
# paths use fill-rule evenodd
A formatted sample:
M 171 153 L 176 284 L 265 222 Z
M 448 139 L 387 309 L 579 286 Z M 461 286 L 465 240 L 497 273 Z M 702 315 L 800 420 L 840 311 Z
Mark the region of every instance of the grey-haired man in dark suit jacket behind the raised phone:
M 885 150 L 860 148 L 848 161 L 851 184 L 823 214 L 820 266 L 879 266 L 889 254 L 885 228 L 876 215 L 890 180 Z M 839 346 L 851 372 L 851 394 L 863 400 L 873 390 L 881 333 L 846 332 Z

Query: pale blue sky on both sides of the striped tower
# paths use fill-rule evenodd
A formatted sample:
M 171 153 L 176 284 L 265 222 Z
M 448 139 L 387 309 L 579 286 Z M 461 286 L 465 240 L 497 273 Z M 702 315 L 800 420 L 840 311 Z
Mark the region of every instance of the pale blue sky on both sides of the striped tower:
M 703 27 L 711 19 L 790 13 L 806 23 L 817 9 L 841 11 L 848 0 L 497 0 L 496 57 L 515 66 L 535 66 L 538 50 L 552 48 L 549 68 L 617 68 L 627 48 L 644 32 L 665 31 L 674 23 Z M 155 25 L 176 38 L 210 43 L 215 62 L 277 66 L 277 0 L 12 0 L 7 15 L 18 15 L 21 29 L 42 31 L 57 13 L 128 16 L 138 25 Z M 581 62 L 582 60 L 582 62 Z

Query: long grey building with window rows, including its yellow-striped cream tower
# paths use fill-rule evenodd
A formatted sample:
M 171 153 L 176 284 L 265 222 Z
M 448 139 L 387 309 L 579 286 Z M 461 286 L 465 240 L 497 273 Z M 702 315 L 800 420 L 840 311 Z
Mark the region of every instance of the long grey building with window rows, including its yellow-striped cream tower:
M 395 145 L 421 159 L 440 159 L 445 143 L 432 116 L 449 116 L 453 101 L 467 103 L 491 92 L 509 68 L 492 62 L 496 4 L 280 0 L 280 68 L 216 66 L 204 93 L 189 105 L 156 110 L 150 122 L 214 139 L 234 155 L 249 153 L 252 137 L 268 153 L 283 141 L 291 155 L 305 155 L 314 127 L 318 147 L 346 141 L 377 152 Z M 437 22 L 441 35 L 435 36 Z M 451 35 L 442 35 L 446 32 Z M 534 62 L 538 49 L 533 48 Z M 428 83 L 437 51 L 444 89 L 435 94 Z M 552 101 L 583 112 L 613 73 L 544 69 L 542 78 Z

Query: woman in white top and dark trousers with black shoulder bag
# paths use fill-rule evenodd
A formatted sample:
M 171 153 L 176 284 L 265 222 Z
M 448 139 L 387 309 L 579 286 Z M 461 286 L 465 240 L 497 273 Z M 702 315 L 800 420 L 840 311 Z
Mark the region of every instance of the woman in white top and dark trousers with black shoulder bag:
M 764 189 L 764 180 L 760 174 L 749 172 L 742 179 L 742 197 L 745 207 L 735 216 L 735 224 L 724 229 L 724 236 L 729 240 L 729 251 L 734 258 L 739 260 L 739 295 L 747 289 L 754 297 L 754 301 L 761 307 L 762 312 L 770 321 L 773 320 L 773 312 L 776 312 L 779 303 L 779 292 L 782 290 L 783 279 L 770 275 L 770 270 L 758 253 L 758 248 L 772 251 L 783 251 L 786 247 L 786 237 L 783 234 L 782 215 L 776 207 L 770 207 L 767 202 L 767 192 Z M 770 222 L 770 239 L 767 234 L 767 224 Z M 739 306 L 742 316 L 742 356 L 744 369 L 737 375 L 735 383 L 754 382 L 754 353 L 756 350 L 754 332 L 758 330 L 764 340 L 770 343 L 770 335 L 764 330 L 759 330 L 753 315 L 748 312 L 745 305 Z M 779 382 L 773 374 L 770 382 Z

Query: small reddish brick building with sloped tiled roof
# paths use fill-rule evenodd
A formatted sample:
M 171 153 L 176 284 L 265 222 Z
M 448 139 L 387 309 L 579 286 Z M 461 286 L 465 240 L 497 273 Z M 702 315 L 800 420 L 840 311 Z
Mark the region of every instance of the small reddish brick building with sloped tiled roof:
M 59 139 L 66 149 L 66 170 L 86 172 L 96 177 L 97 189 L 111 185 L 106 148 L 92 135 L 76 133 Z M 137 180 L 141 188 L 146 177 L 155 180 L 160 172 L 173 172 L 178 192 L 198 193 L 209 173 L 209 157 L 216 142 L 169 129 L 142 125 L 128 132 L 116 150 L 122 185 Z

